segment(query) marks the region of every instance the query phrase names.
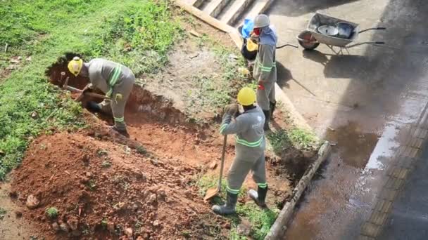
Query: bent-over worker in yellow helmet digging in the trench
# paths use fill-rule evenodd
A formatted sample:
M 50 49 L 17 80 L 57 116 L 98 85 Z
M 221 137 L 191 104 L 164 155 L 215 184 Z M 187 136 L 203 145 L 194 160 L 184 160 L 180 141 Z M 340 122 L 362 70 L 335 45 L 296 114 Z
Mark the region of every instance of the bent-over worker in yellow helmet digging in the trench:
M 135 82 L 135 76 L 131 69 L 101 58 L 83 62 L 79 57 L 74 57 L 73 60 L 68 62 L 68 69 L 75 76 L 80 75 L 89 78 L 90 84 L 85 87 L 84 91 L 89 88 L 98 88 L 103 93 L 106 93 L 110 100 L 103 100 L 99 104 L 88 102 L 88 108 L 94 112 L 113 114 L 115 120 L 113 130 L 129 137 L 124 112 L 127 99 Z

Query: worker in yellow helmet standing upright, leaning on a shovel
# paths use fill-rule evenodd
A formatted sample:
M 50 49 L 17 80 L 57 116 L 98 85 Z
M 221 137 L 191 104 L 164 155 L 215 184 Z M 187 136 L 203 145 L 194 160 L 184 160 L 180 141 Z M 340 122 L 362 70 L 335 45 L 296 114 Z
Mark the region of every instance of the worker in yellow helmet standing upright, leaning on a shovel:
M 265 116 L 262 109 L 254 105 L 256 93 L 251 88 L 242 88 L 238 93 L 238 102 L 244 108 L 244 113 L 235 118 L 239 105 L 225 107 L 220 133 L 236 134 L 235 159 L 227 175 L 227 199 L 223 206 L 213 206 L 213 212 L 225 215 L 235 213 L 239 189 L 246 175 L 253 171 L 253 180 L 258 185 L 257 192 L 250 189 L 248 194 L 260 207 L 265 206 L 267 193 L 265 171 L 265 131 L 263 124 Z M 233 119 L 232 119 L 233 118 Z

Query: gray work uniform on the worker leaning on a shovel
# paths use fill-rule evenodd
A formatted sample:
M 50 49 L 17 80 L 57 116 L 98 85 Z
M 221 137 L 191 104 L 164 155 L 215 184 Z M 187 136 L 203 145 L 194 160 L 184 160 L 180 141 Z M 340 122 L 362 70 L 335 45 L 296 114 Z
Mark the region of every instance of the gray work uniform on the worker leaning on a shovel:
M 265 115 L 260 107 L 249 109 L 236 119 L 230 114 L 223 116 L 220 133 L 236 134 L 235 159 L 227 175 L 227 192 L 238 194 L 246 175 L 253 171 L 253 180 L 265 188 Z

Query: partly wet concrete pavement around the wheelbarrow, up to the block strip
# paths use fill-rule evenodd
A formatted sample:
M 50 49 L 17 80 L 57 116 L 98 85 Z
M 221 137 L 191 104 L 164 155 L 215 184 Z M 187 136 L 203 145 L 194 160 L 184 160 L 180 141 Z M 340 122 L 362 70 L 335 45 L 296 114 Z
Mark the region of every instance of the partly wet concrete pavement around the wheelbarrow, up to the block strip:
M 428 102 L 428 2 L 277 0 L 270 10 L 279 45 L 296 44 L 315 11 L 358 22 L 358 46 L 336 55 L 277 51 L 278 84 L 316 133 L 336 145 L 308 188 L 284 239 L 356 239 L 370 217 L 386 169 Z

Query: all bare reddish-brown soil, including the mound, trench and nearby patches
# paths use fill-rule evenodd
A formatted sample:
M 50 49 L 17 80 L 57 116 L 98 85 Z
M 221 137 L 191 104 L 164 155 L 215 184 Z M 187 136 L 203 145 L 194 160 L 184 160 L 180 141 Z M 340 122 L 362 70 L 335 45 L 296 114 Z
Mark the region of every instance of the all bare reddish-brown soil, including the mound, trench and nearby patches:
M 125 112 L 130 140 L 107 130 L 113 124 L 111 117 L 100 120 L 86 113 L 88 128 L 42 135 L 31 143 L 23 164 L 11 175 L 11 193 L 16 196 L 16 208 L 22 208 L 23 220 L 37 229 L 35 233 L 46 239 L 126 239 L 126 234 L 135 239 L 227 239 L 228 220 L 210 212 L 211 204 L 202 200 L 196 187 L 202 175 L 218 175 L 218 168 L 210 166 L 220 165 L 222 136 L 216 124 L 191 124 L 182 111 L 186 104 L 180 103 L 185 102 L 183 94 L 189 86 L 183 79 L 189 77 L 194 60 L 190 58 L 182 71 L 174 61 L 182 62 L 195 52 L 199 53 L 195 58 L 201 58 L 197 62 L 212 64 L 211 71 L 221 69 L 203 49 L 172 53 L 172 64 L 160 73 L 168 81 L 134 86 Z M 47 70 L 52 84 L 61 86 L 60 73 L 66 72 L 65 64 L 73 56 L 65 55 Z M 209 71 L 197 68 L 197 74 Z M 174 81 L 169 81 L 172 76 Z M 87 82 L 70 76 L 69 85 L 83 88 Z M 158 86 L 156 91 L 153 86 Z M 283 115 L 277 112 L 277 121 L 285 122 Z M 212 120 L 213 116 L 204 117 Z M 234 141 L 229 138 L 226 173 L 233 157 Z M 282 156 L 267 153 L 269 206 L 282 207 L 313 158 L 296 149 Z M 244 185 L 256 187 L 251 176 Z M 30 194 L 40 201 L 34 210 L 25 208 Z M 244 196 L 239 201 L 251 200 Z M 46 216 L 50 207 L 58 208 L 58 217 Z

